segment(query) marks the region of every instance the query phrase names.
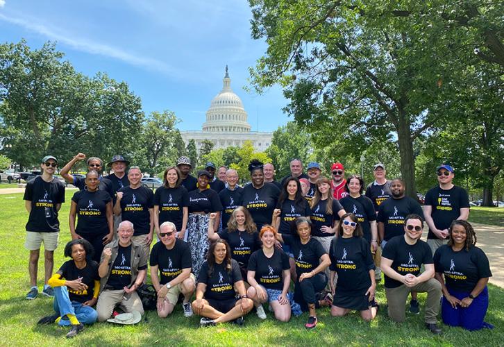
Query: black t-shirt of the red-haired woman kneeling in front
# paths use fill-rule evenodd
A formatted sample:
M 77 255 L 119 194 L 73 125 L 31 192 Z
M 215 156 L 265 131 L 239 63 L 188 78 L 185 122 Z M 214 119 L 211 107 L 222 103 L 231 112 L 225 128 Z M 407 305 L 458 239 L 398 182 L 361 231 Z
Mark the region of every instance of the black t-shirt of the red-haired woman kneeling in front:
M 275 248 L 270 258 L 262 249 L 252 253 L 247 270 L 255 271 L 255 280 L 264 288 L 283 290 L 283 271 L 289 269 L 289 256 Z

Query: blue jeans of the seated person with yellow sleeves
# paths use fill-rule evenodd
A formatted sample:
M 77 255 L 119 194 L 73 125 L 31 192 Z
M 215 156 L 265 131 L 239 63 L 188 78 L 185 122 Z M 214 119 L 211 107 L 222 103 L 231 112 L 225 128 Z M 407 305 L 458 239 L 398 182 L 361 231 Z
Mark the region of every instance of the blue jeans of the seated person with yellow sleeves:
M 90 306 L 83 306 L 77 301 L 70 301 L 67 286 L 54 287 L 54 311 L 65 317 L 67 314 L 75 314 L 77 320 L 83 324 L 92 324 L 98 319 L 98 314 Z M 59 325 L 70 325 L 68 319 L 60 319 Z

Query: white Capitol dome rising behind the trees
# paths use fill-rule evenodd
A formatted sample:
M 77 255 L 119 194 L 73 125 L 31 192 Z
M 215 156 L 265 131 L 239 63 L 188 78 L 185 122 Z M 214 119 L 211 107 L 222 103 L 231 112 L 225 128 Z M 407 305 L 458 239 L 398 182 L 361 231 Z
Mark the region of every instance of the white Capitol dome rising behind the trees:
M 231 78 L 229 78 L 226 65 L 221 92 L 212 99 L 210 108 L 206 112 L 206 121 L 203 123 L 203 132 L 210 133 L 249 133 L 250 124 L 247 122 L 246 111 L 242 99 L 231 90 Z

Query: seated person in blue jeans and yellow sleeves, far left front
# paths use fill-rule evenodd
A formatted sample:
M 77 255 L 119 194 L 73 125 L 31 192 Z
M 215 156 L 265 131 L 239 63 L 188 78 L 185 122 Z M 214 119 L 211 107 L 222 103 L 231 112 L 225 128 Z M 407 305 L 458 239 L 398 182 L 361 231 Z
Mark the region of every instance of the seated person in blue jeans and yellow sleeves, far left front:
M 49 279 L 54 289 L 54 311 L 39 324 L 57 322 L 58 325 L 71 325 L 67 337 L 75 337 L 84 329 L 84 324 L 96 322 L 98 314 L 92 306 L 100 291 L 98 264 L 91 260 L 93 247 L 85 239 L 74 239 L 65 246 L 65 257 L 71 257 Z

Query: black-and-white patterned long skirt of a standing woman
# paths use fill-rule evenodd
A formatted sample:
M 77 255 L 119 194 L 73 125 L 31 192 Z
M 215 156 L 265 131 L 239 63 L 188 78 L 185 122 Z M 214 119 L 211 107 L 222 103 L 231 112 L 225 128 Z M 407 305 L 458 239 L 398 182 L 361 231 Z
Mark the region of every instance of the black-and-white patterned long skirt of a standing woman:
M 206 260 L 208 242 L 208 214 L 189 214 L 187 221 L 187 243 L 191 249 L 192 273 L 199 278 L 199 270 Z

